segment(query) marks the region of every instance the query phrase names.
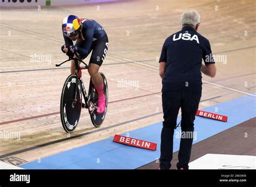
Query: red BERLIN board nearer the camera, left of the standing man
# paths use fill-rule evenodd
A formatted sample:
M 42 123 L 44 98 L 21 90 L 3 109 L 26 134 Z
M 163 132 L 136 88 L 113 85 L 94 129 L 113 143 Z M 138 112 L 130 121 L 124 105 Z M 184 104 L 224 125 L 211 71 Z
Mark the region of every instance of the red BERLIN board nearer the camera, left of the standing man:
M 114 142 L 122 143 L 126 146 L 132 146 L 132 147 L 138 147 L 143 149 L 149 149 L 149 150 L 157 150 L 157 143 L 144 141 L 144 140 L 138 140 L 135 138 L 130 138 L 122 135 L 114 135 Z

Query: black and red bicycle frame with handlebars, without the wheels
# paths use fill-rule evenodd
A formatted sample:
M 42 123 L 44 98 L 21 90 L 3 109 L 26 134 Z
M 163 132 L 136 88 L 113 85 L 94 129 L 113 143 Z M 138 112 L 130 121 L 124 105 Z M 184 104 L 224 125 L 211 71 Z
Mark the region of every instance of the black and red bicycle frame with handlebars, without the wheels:
M 77 94 L 77 84 L 78 84 L 78 81 L 80 83 L 80 85 L 82 86 L 82 94 L 83 94 L 83 97 L 84 97 L 84 100 L 85 100 L 85 108 L 88 108 L 88 100 L 89 100 L 89 97 L 88 95 L 86 94 L 86 90 L 85 90 L 85 87 L 84 87 L 84 82 L 83 82 L 83 79 L 82 79 L 82 70 L 83 69 L 88 69 L 89 66 L 83 62 L 81 59 L 78 59 L 78 58 L 73 58 L 73 57 L 69 57 L 68 60 L 60 63 L 60 64 L 56 64 L 56 67 L 59 67 L 61 66 L 63 63 L 65 62 L 68 62 L 68 61 L 71 61 L 71 60 L 74 60 L 75 61 L 75 65 L 76 65 L 76 70 L 75 70 L 75 75 L 77 76 L 77 79 L 76 79 L 76 89 L 75 89 L 75 92 L 74 92 L 74 96 L 73 96 L 73 103 L 76 103 L 77 99 L 76 99 L 76 94 Z M 78 65 L 78 61 L 82 62 L 85 67 L 79 67 Z

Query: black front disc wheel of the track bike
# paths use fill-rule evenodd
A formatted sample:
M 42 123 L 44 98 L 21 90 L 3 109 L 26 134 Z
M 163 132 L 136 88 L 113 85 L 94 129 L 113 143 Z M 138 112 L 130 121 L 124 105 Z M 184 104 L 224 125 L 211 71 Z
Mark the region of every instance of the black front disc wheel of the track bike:
M 82 90 L 80 82 L 77 81 L 76 75 L 72 74 L 68 76 L 63 85 L 62 96 L 60 98 L 60 118 L 62 120 L 62 126 L 67 133 L 72 133 L 75 130 L 81 113 Z M 75 93 L 76 87 L 78 88 Z

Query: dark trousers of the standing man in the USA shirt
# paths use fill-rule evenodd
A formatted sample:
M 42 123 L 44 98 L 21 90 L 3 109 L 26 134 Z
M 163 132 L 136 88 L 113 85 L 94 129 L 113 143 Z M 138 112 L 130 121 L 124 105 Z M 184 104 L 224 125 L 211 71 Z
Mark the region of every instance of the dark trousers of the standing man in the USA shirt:
M 160 168 L 170 169 L 173 153 L 173 133 L 177 125 L 177 117 L 181 107 L 181 134 L 194 132 L 194 119 L 201 98 L 199 89 L 162 90 L 162 105 L 164 112 L 161 131 Z M 188 169 L 193 136 L 181 136 L 177 168 Z

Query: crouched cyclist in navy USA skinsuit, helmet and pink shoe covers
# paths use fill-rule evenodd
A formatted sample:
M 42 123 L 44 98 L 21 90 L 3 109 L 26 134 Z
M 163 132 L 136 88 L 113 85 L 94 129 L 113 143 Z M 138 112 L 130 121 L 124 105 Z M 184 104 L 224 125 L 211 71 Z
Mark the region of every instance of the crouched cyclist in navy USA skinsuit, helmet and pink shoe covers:
M 92 52 L 88 72 L 98 93 L 97 113 L 104 113 L 106 96 L 104 95 L 103 78 L 99 74 L 99 68 L 109 49 L 109 40 L 104 28 L 95 20 L 79 19 L 77 16 L 70 15 L 63 19 L 62 31 L 65 40 L 65 45 L 61 48 L 63 53 L 71 57 L 85 59 Z M 73 41 L 76 41 L 75 45 L 73 45 Z M 71 74 L 75 73 L 75 69 L 75 61 L 71 60 Z

